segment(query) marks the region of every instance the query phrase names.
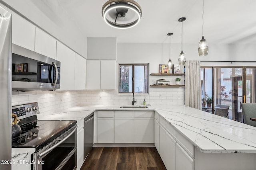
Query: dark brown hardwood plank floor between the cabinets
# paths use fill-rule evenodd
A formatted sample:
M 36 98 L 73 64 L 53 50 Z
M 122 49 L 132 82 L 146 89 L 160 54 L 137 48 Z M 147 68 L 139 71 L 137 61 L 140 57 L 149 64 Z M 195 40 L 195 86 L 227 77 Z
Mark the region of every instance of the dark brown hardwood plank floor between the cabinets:
M 93 147 L 81 170 L 166 170 L 155 147 Z

